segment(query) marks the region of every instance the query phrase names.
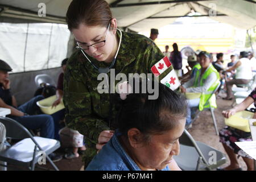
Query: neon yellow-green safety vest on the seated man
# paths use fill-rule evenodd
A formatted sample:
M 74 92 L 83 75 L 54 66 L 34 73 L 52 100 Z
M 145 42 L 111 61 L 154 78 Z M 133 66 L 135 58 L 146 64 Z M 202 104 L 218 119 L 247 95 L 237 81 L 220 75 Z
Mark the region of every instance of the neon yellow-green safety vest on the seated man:
M 207 69 L 207 71 L 205 71 L 204 74 L 202 75 L 202 77 L 200 79 L 200 86 L 204 85 L 204 81 L 207 80 L 207 77 L 212 72 L 216 73 L 217 80 L 210 86 L 210 88 L 208 90 L 206 90 L 204 93 L 201 94 L 200 102 L 199 102 L 199 110 L 200 111 L 204 110 L 204 108 L 208 108 L 209 104 L 210 104 L 210 107 L 217 108 L 215 94 L 213 94 L 212 97 L 210 97 L 210 95 L 212 94 L 212 92 L 214 91 L 216 86 L 218 85 L 218 83 L 220 81 L 220 75 L 217 72 L 217 70 L 213 67 L 212 64 L 210 65 L 209 69 Z M 198 82 L 199 76 L 200 76 L 200 71 L 197 71 L 196 72 L 196 80 L 195 80 L 194 85 L 193 85 L 194 87 L 197 87 L 197 85 L 198 85 L 197 82 Z M 209 99 L 209 104 L 205 105 L 208 99 Z

